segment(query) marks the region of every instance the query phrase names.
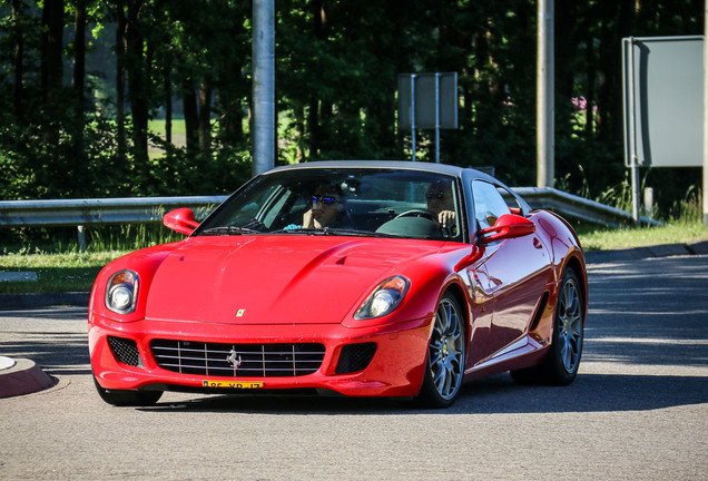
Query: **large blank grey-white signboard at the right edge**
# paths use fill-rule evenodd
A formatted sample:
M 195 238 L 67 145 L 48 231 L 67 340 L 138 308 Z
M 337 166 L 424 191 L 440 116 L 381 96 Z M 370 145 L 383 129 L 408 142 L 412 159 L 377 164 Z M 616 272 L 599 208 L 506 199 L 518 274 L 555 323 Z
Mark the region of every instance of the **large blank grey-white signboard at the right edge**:
M 626 38 L 622 67 L 626 165 L 701 167 L 702 37 Z

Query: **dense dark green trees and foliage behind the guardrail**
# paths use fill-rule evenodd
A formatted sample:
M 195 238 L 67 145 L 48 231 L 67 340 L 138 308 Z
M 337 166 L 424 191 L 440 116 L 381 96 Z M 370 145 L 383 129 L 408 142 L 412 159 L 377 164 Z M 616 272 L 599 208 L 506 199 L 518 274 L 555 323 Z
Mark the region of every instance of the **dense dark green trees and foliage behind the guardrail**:
M 534 1 L 275 4 L 277 163 L 409 158 L 396 76 L 458 71 L 460 128 L 443 130 L 443 161 L 534 184 Z M 250 9 L 3 1 L 0 198 L 234 190 L 250 175 Z M 702 0 L 555 2 L 557 185 L 592 198 L 621 192 L 620 39 L 699 35 L 702 14 Z M 151 119 L 164 119 L 161 136 Z M 433 141 L 419 131 L 419 158 L 432 159 Z M 646 177 L 659 199 L 700 181 L 698 169 L 667 170 Z

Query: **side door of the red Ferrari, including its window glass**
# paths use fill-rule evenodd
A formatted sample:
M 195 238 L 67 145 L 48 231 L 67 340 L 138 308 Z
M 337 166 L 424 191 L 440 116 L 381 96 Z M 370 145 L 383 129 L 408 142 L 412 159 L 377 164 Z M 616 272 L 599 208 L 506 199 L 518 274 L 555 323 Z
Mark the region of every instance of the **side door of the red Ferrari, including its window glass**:
M 474 217 L 478 232 L 511 214 L 504 188 L 474 180 Z M 513 197 L 513 196 L 512 196 Z M 493 298 L 493 314 L 485 352 L 491 356 L 522 338 L 547 288 L 549 254 L 537 234 L 507 238 L 484 247 L 482 258 L 486 282 L 481 286 Z M 481 360 L 482 362 L 484 360 Z

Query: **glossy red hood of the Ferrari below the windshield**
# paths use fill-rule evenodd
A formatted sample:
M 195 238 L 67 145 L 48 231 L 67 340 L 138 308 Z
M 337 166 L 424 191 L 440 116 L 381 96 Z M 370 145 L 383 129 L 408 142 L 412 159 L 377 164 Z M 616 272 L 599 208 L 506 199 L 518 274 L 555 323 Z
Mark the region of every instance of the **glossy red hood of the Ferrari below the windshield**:
M 443 245 L 333 236 L 194 237 L 158 267 L 145 314 L 223 324 L 341 323 L 377 283 Z

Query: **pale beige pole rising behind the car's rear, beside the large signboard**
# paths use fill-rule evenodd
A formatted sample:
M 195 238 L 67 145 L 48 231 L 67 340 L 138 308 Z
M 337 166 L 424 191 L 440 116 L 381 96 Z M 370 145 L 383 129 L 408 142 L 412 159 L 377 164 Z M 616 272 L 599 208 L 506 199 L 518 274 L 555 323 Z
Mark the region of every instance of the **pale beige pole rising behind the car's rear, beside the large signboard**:
M 553 0 L 539 0 L 537 50 L 537 185 L 553 187 Z

